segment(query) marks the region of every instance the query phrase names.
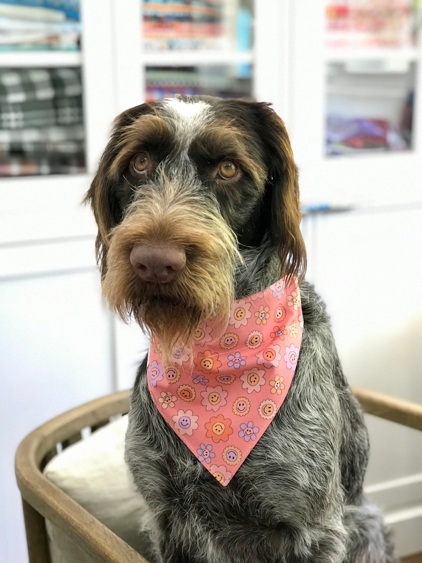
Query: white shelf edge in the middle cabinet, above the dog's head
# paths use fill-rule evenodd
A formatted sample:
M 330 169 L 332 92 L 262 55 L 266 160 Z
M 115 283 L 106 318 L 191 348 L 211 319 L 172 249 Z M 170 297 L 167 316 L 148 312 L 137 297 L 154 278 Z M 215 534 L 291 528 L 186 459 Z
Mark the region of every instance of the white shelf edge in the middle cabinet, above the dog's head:
M 252 51 L 146 51 L 145 66 L 233 65 L 253 61 Z

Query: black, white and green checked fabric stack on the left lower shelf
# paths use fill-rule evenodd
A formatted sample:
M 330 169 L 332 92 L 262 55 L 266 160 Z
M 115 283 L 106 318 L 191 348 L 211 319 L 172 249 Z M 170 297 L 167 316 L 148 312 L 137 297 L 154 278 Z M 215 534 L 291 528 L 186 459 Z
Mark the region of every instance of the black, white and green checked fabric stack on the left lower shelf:
M 0 176 L 85 169 L 80 70 L 0 70 Z

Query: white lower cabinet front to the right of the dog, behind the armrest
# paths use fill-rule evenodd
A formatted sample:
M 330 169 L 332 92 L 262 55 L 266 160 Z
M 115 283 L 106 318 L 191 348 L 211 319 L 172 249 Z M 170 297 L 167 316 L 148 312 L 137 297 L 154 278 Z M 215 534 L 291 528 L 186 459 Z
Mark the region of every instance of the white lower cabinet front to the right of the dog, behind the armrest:
M 308 280 L 351 385 L 422 403 L 422 209 L 307 217 Z M 401 555 L 422 551 L 422 432 L 367 417 L 366 484 Z

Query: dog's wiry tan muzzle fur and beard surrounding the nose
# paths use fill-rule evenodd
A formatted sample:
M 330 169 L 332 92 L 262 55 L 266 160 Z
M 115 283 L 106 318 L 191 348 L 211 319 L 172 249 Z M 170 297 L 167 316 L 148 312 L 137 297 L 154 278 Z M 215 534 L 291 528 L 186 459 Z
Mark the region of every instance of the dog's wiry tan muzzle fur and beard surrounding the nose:
M 186 267 L 170 284 L 143 283 L 129 261 L 135 244 L 185 248 Z M 102 289 L 110 306 L 159 341 L 164 363 L 175 347 L 191 348 L 197 326 L 224 326 L 234 300 L 234 271 L 240 254 L 217 205 L 169 180 L 142 188 L 123 222 L 111 232 Z

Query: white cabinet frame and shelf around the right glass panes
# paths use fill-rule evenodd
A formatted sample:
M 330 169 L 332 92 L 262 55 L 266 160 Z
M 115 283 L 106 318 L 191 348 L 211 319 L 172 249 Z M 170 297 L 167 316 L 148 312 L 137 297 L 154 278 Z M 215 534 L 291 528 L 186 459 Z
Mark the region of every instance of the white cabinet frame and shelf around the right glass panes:
M 421 202 L 422 73 L 416 72 L 412 149 L 350 157 L 325 156 L 326 65 L 393 57 L 422 63 L 421 47 L 326 49 L 325 2 L 295 0 L 291 9 L 289 132 L 299 166 L 302 202 L 333 207 Z

